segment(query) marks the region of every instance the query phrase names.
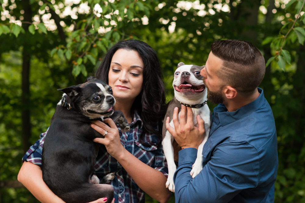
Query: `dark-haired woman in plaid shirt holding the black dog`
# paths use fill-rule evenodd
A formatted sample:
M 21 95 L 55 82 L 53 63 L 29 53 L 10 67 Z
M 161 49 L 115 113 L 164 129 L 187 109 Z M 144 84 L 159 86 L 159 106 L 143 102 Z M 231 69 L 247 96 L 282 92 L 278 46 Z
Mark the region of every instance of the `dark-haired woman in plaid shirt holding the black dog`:
M 116 99 L 114 109 L 124 113 L 131 127 L 124 133 L 111 119 L 104 120 L 110 127 L 99 121 L 91 124 L 101 134 L 107 131 L 105 138 L 94 140 L 103 144 L 94 173 L 101 178 L 115 172 L 111 184 L 116 203 L 144 202 L 144 192 L 160 202 L 166 202 L 170 197 L 170 191 L 165 188 L 167 166 L 160 144 L 165 103 L 161 75 L 156 52 L 138 40 L 115 44 L 96 72 L 96 78 L 112 87 Z M 41 202 L 63 202 L 42 180 L 39 163 L 45 134 L 41 134 L 41 139 L 24 156 L 26 162 L 18 180 Z

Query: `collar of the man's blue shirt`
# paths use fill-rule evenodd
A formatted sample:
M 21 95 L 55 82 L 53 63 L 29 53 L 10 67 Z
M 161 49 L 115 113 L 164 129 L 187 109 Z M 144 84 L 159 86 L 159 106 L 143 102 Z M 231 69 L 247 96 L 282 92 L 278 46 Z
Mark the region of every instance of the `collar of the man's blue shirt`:
M 246 117 L 247 115 L 253 113 L 254 111 L 258 110 L 266 101 L 264 97 L 264 92 L 262 89 L 257 88 L 260 96 L 251 103 L 248 103 L 246 106 L 243 106 L 236 111 L 228 112 L 228 109 L 224 106 L 223 103 L 219 104 L 217 107 L 214 108 L 214 114 L 218 114 L 219 121 L 221 126 L 228 125 Z

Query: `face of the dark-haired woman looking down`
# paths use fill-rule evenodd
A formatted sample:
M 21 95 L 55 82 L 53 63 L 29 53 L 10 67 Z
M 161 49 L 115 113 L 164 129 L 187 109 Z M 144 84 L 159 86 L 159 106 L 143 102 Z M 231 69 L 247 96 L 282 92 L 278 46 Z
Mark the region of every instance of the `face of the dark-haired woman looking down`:
M 113 54 L 108 80 L 117 100 L 135 100 L 140 94 L 143 68 L 143 61 L 137 51 L 119 49 Z

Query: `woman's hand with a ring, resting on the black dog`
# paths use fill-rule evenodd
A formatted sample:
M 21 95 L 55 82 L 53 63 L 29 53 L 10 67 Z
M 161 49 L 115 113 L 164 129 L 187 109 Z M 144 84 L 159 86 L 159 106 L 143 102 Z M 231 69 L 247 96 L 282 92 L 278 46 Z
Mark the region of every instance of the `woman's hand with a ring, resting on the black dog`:
M 121 144 L 119 130 L 113 120 L 111 118 L 106 118 L 104 123 L 101 121 L 92 121 L 92 123 L 90 124 L 91 127 L 100 134 L 103 135 L 105 131 L 107 131 L 107 134 L 104 135 L 105 138 L 95 138 L 93 141 L 105 145 L 107 152 L 115 159 L 122 156 L 125 148 Z M 110 127 L 105 123 L 109 124 Z

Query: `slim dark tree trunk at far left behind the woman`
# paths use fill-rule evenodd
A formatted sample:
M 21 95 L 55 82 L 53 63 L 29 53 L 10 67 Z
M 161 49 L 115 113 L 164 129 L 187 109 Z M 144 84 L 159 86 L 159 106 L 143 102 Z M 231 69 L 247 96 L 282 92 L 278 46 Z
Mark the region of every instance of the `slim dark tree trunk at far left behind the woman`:
M 32 22 L 32 9 L 30 7 L 29 0 L 22 0 L 24 10 L 24 21 Z M 23 29 L 26 31 L 26 35 L 29 33 L 29 24 L 23 23 Z M 22 142 L 23 151 L 26 152 L 30 147 L 31 137 L 31 122 L 30 122 L 30 44 L 27 40 L 24 40 L 22 51 Z

